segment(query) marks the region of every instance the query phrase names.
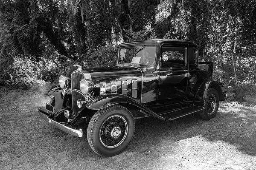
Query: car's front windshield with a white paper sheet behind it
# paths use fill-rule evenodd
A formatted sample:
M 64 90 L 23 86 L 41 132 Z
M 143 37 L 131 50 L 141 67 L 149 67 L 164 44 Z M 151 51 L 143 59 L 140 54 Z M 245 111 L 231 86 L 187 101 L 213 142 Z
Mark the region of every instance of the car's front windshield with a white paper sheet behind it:
M 118 64 L 154 65 L 157 47 L 126 47 L 120 48 Z

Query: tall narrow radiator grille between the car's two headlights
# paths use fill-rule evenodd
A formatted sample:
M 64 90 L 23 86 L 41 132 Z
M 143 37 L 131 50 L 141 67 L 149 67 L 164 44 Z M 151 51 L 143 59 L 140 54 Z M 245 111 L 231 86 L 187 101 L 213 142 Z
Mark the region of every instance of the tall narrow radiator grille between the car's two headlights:
M 84 75 L 81 73 L 72 73 L 71 74 L 71 88 L 80 90 L 80 81 L 83 78 L 84 78 Z M 85 101 L 85 97 L 82 94 L 80 94 L 76 91 L 72 91 L 73 116 L 77 116 L 79 111 L 81 111 L 84 108 L 84 105 L 81 108 L 79 108 L 77 106 L 78 99 Z

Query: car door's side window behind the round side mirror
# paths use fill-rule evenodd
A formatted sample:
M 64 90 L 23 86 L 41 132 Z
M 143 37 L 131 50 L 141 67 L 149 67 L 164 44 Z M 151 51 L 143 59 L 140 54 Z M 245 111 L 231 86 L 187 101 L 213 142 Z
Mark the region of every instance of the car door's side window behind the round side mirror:
M 162 68 L 182 67 L 185 65 L 185 48 L 184 47 L 168 47 L 161 48 L 162 57 L 167 56 L 168 60 L 162 62 Z

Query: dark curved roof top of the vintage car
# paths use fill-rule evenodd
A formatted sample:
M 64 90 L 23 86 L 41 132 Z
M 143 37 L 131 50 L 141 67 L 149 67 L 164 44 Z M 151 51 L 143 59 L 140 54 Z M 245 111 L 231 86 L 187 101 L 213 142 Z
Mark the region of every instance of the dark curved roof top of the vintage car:
M 189 40 L 176 40 L 176 39 L 153 39 L 153 40 L 143 40 L 143 41 L 131 41 L 131 42 L 125 42 L 118 45 L 119 47 L 126 46 L 126 45 L 161 45 L 163 43 L 180 43 L 180 44 L 190 44 L 190 45 L 196 45 L 195 42 L 189 41 Z

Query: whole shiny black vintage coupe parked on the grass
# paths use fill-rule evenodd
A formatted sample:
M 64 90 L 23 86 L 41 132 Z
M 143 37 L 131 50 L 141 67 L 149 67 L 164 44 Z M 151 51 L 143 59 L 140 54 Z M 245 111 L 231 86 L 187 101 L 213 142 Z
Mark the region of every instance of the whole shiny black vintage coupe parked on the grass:
M 212 62 L 198 63 L 198 45 L 185 40 L 145 40 L 118 46 L 116 65 L 60 76 L 39 115 L 87 139 L 102 156 L 121 153 L 134 136 L 134 119 L 171 121 L 191 113 L 208 120 L 224 100 L 212 80 Z

